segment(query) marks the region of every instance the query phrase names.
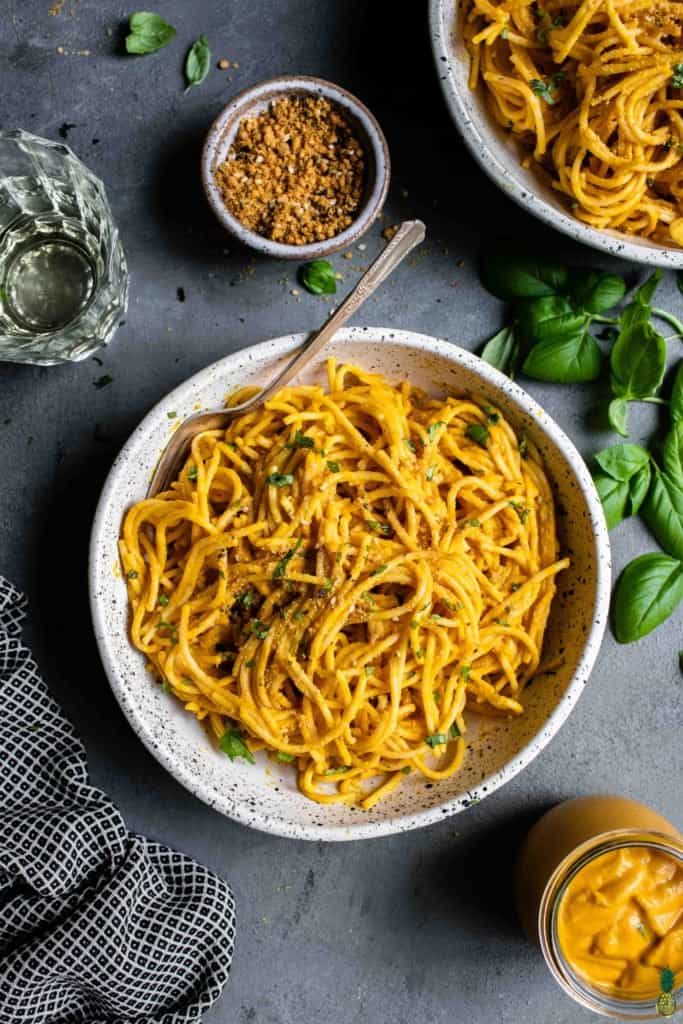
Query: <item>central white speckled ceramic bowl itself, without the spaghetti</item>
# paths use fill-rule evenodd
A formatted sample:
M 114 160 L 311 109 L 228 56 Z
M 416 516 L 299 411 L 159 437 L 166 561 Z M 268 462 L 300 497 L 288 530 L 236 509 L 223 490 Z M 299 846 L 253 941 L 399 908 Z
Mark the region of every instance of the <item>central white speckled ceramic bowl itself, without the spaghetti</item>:
M 471 394 L 499 406 L 539 445 L 556 487 L 559 528 L 571 568 L 559 578 L 547 652 L 563 667 L 525 694 L 518 721 L 470 715 L 463 769 L 431 784 L 417 774 L 370 811 L 318 805 L 298 792 L 293 769 L 263 754 L 251 766 L 215 750 L 194 716 L 155 685 L 144 658 L 128 640 L 128 608 L 117 541 L 128 506 L 142 498 L 172 423 L 168 413 L 220 406 L 228 387 L 268 380 L 303 335 L 266 341 L 220 359 L 162 399 L 144 418 L 112 467 L 90 544 L 90 599 L 95 636 L 114 692 L 135 732 L 191 793 L 222 814 L 280 836 L 351 840 L 386 836 L 439 821 L 493 793 L 527 765 L 569 715 L 586 685 L 607 620 L 609 541 L 602 508 L 583 459 L 559 427 L 522 389 L 456 345 L 385 328 L 340 331 L 326 356 L 358 364 L 393 380 L 408 378 L 431 394 Z M 303 379 L 324 382 L 325 359 Z

